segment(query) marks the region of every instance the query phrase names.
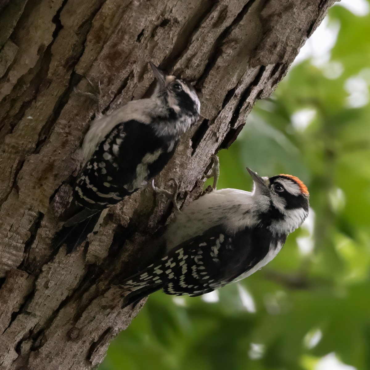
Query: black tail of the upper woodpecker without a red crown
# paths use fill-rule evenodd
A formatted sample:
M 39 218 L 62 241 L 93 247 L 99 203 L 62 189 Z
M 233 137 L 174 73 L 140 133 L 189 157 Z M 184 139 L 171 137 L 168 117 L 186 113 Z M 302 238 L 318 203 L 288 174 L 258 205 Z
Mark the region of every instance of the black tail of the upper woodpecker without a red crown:
M 58 249 L 62 245 L 65 245 L 67 254 L 73 252 L 73 250 L 81 245 L 81 243 L 87 239 L 87 236 L 94 230 L 100 214 L 101 212 L 94 213 L 75 225 L 63 225 L 63 227 L 55 234 L 51 242 L 51 247 L 53 249 Z

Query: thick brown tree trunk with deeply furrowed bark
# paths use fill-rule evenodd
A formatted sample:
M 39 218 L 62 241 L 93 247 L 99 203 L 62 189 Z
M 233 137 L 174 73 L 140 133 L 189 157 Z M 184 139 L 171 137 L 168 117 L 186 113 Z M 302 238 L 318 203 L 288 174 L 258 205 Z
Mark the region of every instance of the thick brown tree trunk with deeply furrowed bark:
M 72 255 L 50 240 L 80 166 L 100 81 L 109 112 L 153 88 L 148 61 L 194 81 L 201 119 L 156 179 L 199 196 L 210 156 L 271 94 L 334 0 L 0 1 L 0 369 L 92 369 L 140 307 L 112 285 L 155 253 L 172 216 L 143 189 Z M 141 262 L 139 262 L 141 261 Z

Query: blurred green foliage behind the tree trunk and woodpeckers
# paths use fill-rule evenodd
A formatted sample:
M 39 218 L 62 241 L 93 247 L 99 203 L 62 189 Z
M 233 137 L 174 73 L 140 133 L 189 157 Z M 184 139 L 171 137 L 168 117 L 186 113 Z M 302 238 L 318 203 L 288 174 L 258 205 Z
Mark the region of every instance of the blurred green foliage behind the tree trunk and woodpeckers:
M 219 153 L 218 188 L 250 190 L 247 165 L 302 179 L 309 222 L 218 302 L 153 294 L 100 370 L 370 369 L 370 16 L 334 6 L 331 26 L 331 55 L 293 65 Z

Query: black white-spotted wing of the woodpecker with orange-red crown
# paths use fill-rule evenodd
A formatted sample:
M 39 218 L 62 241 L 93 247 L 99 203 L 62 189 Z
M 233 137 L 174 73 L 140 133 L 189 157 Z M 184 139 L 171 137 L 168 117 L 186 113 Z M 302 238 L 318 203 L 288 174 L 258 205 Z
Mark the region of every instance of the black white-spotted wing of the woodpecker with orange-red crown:
M 253 268 L 269 252 L 271 242 L 273 235 L 265 228 L 246 228 L 232 235 L 218 225 L 181 243 L 122 285 L 137 300 L 138 292 L 143 298 L 159 289 L 171 295 L 202 295 Z

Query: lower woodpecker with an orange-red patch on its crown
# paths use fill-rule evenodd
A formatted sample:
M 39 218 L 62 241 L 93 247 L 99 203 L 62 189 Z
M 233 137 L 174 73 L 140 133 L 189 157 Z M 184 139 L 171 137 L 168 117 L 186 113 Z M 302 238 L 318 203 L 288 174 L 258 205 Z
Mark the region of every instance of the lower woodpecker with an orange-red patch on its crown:
M 199 296 L 269 263 L 308 215 L 309 192 L 291 175 L 252 176 L 253 191 L 221 189 L 178 213 L 164 238 L 163 258 L 129 277 L 123 307 L 156 290 Z

